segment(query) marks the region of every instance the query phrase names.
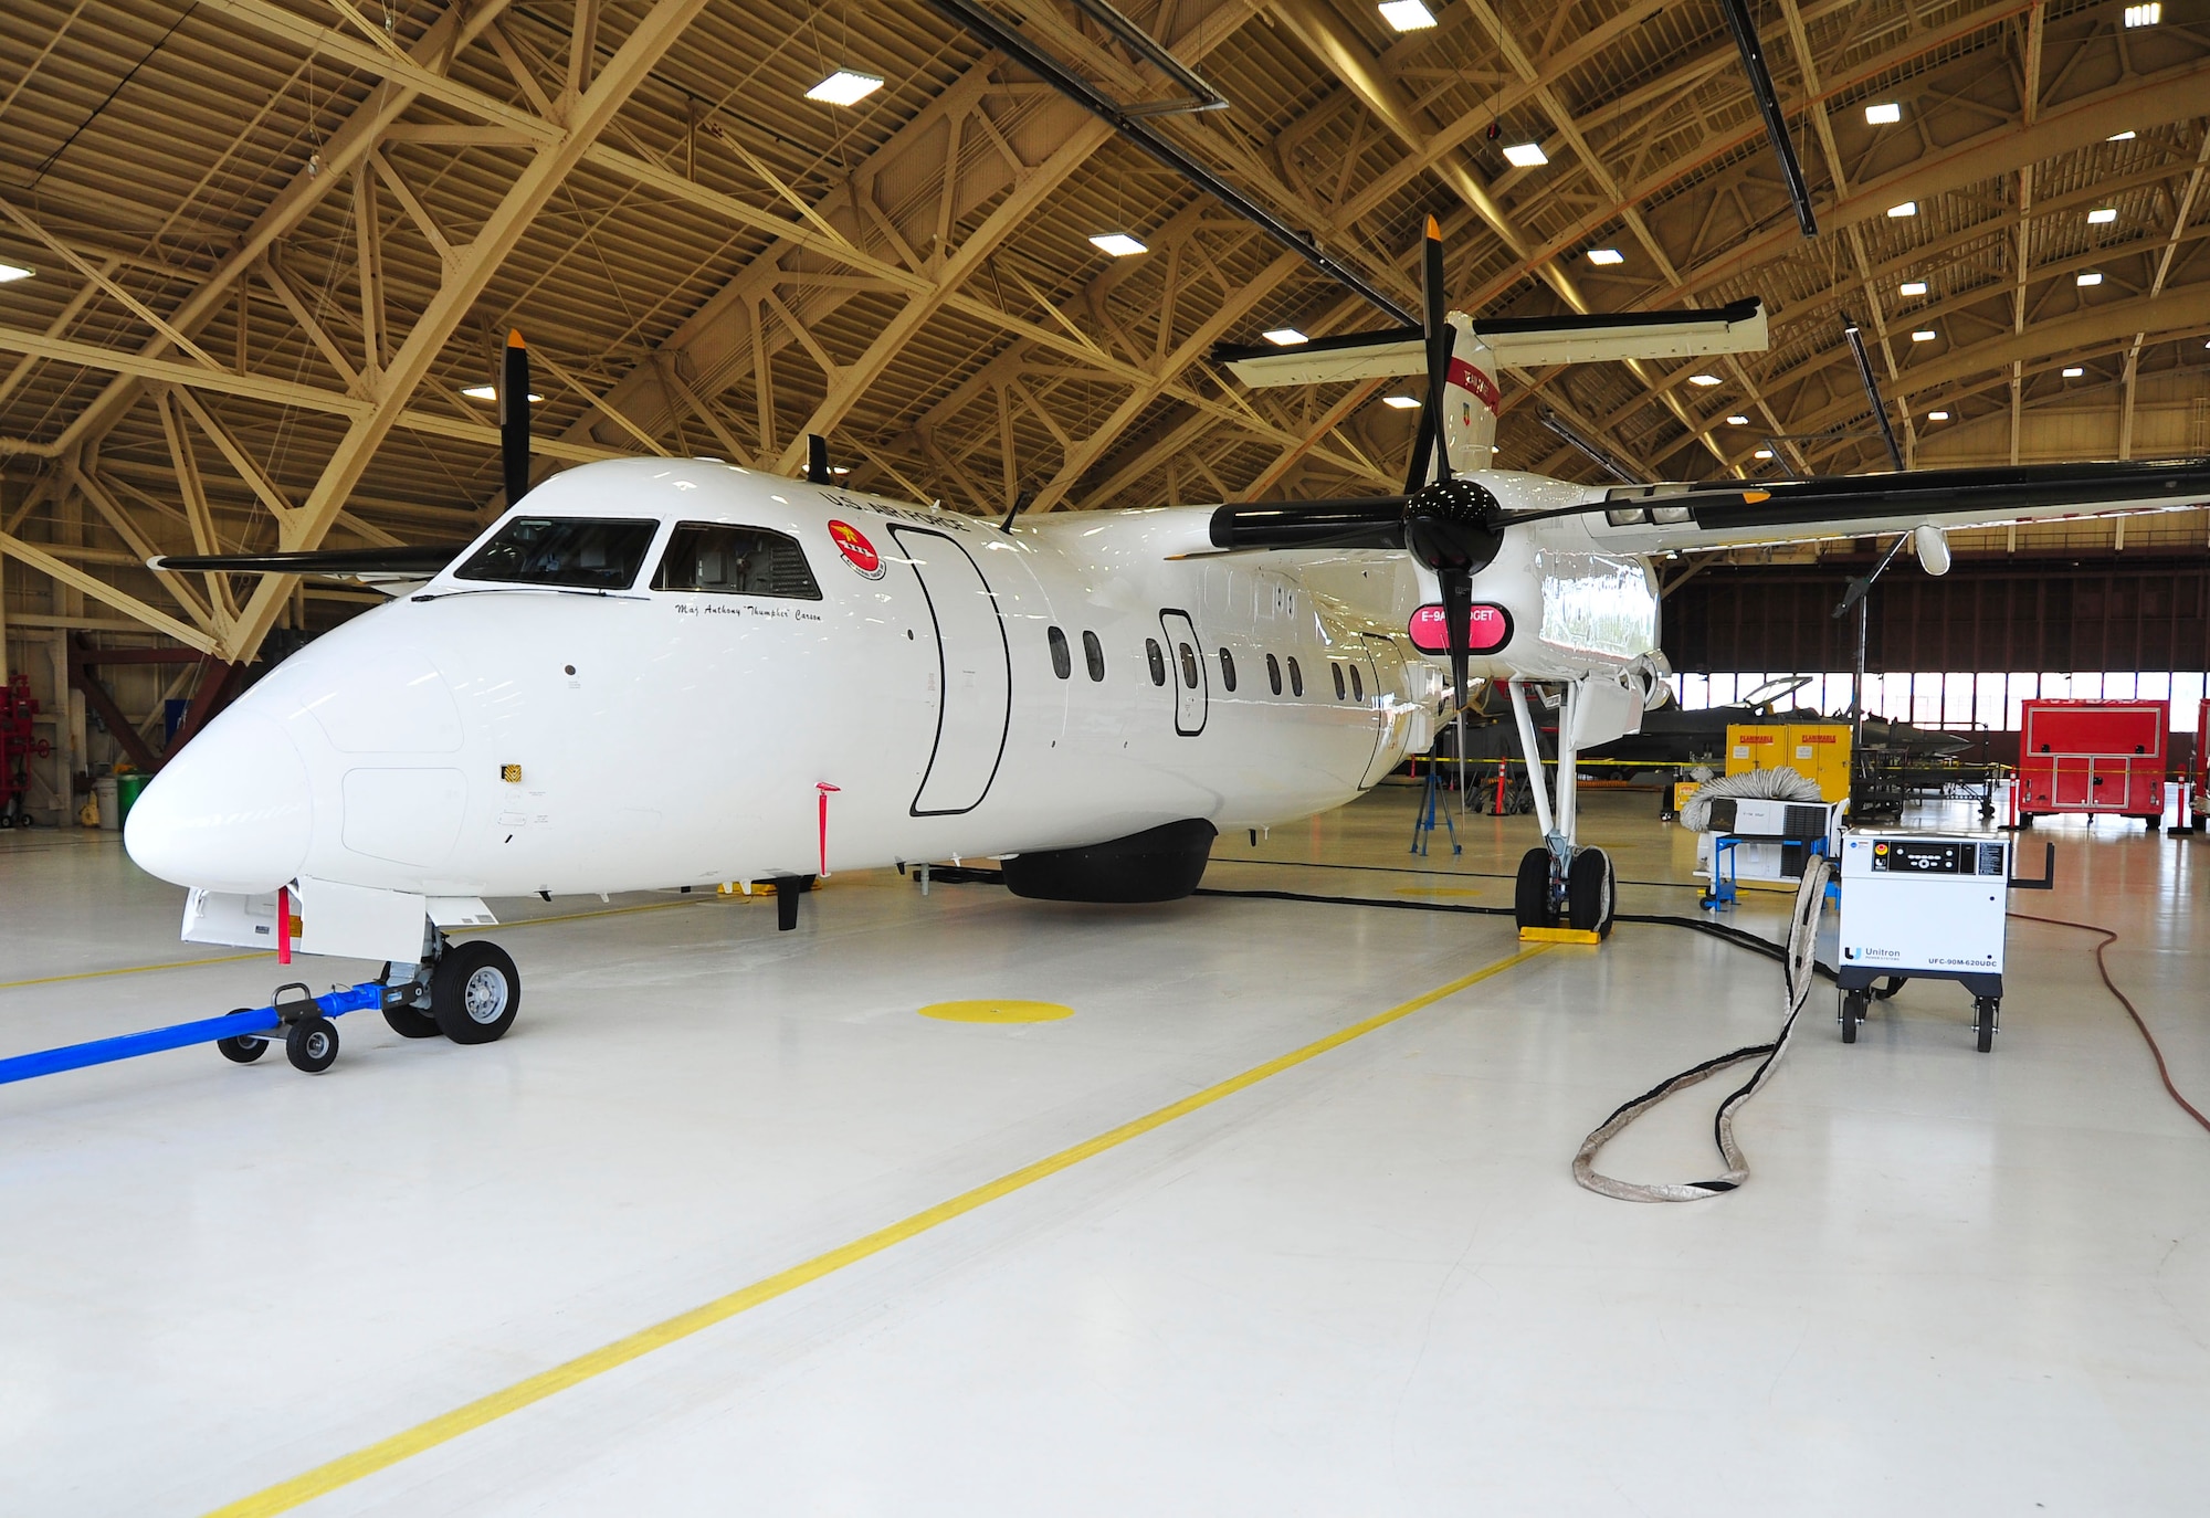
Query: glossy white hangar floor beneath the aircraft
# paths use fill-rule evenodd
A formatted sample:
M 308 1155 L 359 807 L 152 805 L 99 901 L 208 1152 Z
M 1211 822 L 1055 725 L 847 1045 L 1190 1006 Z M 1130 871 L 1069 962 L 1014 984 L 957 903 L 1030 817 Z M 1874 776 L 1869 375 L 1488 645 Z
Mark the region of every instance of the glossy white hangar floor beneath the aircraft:
M 1417 795 L 1222 840 L 1207 884 L 1507 904 L 1532 822 L 1414 860 Z M 1664 882 L 1627 910 L 1693 913 L 1649 813 L 1585 829 Z M 2210 1092 L 2206 844 L 2053 835 L 2022 910 L 2117 928 Z M 1750 1184 L 1633 1206 L 1571 1184 L 1576 1145 L 1770 1036 L 1777 966 L 1622 924 L 1368 1025 L 1509 961 L 1509 919 L 897 875 L 787 935 L 528 906 L 502 1043 L 356 1014 L 323 1076 L 197 1047 L 0 1087 L 0 1509 L 2201 1511 L 2210 1136 L 2091 935 L 2013 928 L 1991 1056 L 1956 988 L 1845 1047 L 1821 985 L 1741 1120 Z M 267 959 L 175 963 L 177 913 L 115 835 L 0 840 L 0 1054 L 265 1001 Z M 917 1016 L 1008 997 L 1074 1014 Z M 1604 1169 L 1715 1173 L 1730 1085 Z

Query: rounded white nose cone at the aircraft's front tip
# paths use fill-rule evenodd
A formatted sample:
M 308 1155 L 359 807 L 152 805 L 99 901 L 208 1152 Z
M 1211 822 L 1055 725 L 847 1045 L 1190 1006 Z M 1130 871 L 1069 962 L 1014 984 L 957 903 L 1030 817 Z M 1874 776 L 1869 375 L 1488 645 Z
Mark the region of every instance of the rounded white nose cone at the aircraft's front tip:
M 314 787 L 292 736 L 225 711 L 161 767 L 124 824 L 124 848 L 177 886 L 259 895 L 307 860 Z

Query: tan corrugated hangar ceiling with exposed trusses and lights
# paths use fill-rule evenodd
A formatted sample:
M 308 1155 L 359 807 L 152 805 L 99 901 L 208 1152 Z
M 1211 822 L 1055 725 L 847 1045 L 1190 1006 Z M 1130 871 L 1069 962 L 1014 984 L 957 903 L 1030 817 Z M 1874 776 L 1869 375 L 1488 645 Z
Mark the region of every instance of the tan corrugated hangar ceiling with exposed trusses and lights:
M 1229 102 L 1140 119 L 1403 305 L 1430 212 L 1461 309 L 1768 303 L 1766 354 L 1509 373 L 1503 466 L 1598 477 L 1549 411 L 1646 477 L 1885 468 L 1845 318 L 1914 464 L 2210 444 L 2199 0 L 2130 27 L 2104 0 L 1761 0 L 1817 239 L 1713 0 L 1430 9 L 1397 33 L 1353 0 L 1140 0 Z M 1094 11 L 992 9 L 1112 99 L 1176 102 Z M 824 433 L 855 486 L 990 515 L 1403 471 L 1390 387 L 1209 362 L 1388 325 L 1368 301 L 924 0 L 11 0 L 0 40 L 20 625 L 239 658 L 338 608 L 148 552 L 473 535 L 504 499 L 469 391 L 508 327 L 539 471 L 798 473 Z M 809 99 L 838 68 L 882 86 Z

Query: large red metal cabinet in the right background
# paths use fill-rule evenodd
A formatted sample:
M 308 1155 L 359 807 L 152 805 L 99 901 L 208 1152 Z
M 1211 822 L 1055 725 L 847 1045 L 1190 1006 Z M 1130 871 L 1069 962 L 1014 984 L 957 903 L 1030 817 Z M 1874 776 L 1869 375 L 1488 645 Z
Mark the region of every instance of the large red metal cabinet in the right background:
M 2157 826 L 2170 751 L 2168 700 L 2029 700 L 2018 727 L 2018 820 L 2111 811 Z

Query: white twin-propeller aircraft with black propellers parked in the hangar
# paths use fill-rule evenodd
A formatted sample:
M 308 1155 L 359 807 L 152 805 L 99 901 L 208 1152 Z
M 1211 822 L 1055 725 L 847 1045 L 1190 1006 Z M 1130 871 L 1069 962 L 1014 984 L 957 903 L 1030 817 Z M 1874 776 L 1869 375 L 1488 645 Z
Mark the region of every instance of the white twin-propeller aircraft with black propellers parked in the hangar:
M 1664 698 L 1651 555 L 2192 506 L 2210 460 L 1602 488 L 1492 471 L 1496 362 L 1761 347 L 1755 307 L 1474 323 L 1235 362 L 1253 382 L 1425 369 L 1412 488 L 1361 502 L 992 524 L 714 460 L 586 464 L 444 550 L 166 559 L 385 577 L 396 599 L 245 692 L 146 789 L 126 844 L 190 886 L 183 937 L 389 961 L 387 1021 L 497 1039 L 486 897 L 778 882 L 994 857 L 1017 895 L 1187 895 L 1222 829 L 1339 807 L 1503 681 L 1545 842 L 1527 926 L 1602 932 L 1574 753 Z M 1271 371 L 1269 371 L 1271 369 Z M 508 400 L 513 398 L 513 400 Z M 1441 424 L 1443 444 L 1434 446 Z M 1430 468 L 1432 466 L 1432 468 Z M 526 499 L 524 499 L 526 491 Z M 1448 608 L 1448 610 L 1445 610 Z M 1558 687 L 1556 800 L 1527 685 Z

